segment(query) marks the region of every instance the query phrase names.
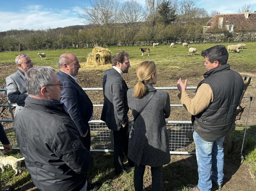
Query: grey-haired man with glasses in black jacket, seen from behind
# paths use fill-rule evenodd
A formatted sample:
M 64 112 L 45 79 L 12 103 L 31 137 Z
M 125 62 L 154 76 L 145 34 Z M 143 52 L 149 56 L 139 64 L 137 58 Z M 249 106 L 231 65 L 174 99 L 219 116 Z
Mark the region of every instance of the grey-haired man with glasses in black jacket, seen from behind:
M 93 158 L 60 102 L 63 88 L 55 72 L 35 67 L 25 74 L 28 97 L 15 117 L 17 143 L 39 190 L 86 191 Z

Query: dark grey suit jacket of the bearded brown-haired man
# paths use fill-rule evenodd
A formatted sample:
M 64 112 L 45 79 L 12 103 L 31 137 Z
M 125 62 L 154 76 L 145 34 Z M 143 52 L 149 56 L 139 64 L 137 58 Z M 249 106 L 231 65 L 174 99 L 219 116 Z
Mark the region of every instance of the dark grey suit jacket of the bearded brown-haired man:
M 104 104 L 101 120 L 105 121 L 108 128 L 114 131 L 119 131 L 122 124 L 128 121 L 127 90 L 128 87 L 124 79 L 115 69 L 112 68 L 104 72 Z

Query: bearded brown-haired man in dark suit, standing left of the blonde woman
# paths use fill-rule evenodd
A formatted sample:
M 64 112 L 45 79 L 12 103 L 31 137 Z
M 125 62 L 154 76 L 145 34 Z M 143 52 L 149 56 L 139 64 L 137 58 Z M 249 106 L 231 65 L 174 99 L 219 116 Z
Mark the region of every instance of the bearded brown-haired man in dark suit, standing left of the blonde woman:
M 126 170 L 123 165 L 124 154 L 127 157 L 128 139 L 127 130 L 129 111 L 127 103 L 128 87 L 122 78 L 123 73 L 128 73 L 130 65 L 128 53 L 121 51 L 112 58 L 112 69 L 106 70 L 103 75 L 104 104 L 101 120 L 105 121 L 108 128 L 113 130 L 114 137 L 114 167 L 117 174 Z M 130 167 L 134 163 L 128 158 Z

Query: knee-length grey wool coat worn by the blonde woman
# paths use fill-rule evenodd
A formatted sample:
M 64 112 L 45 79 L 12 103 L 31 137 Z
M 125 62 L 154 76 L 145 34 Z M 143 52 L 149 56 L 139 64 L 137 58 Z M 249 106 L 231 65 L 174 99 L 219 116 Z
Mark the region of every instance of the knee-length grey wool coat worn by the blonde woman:
M 141 110 L 153 91 L 148 84 L 143 98 L 133 96 L 133 89 L 127 91 L 129 108 L 133 117 Z M 130 130 L 128 157 L 137 165 L 153 167 L 170 162 L 169 139 L 165 118 L 170 116 L 170 97 L 166 91 L 157 91 Z

